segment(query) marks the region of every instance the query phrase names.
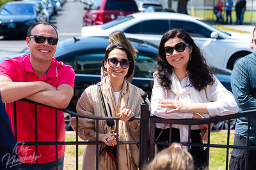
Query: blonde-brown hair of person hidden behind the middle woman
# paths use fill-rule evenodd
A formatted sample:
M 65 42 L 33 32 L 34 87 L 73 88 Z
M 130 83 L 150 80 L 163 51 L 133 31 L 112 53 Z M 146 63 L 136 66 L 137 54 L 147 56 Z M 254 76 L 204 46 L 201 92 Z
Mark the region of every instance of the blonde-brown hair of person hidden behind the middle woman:
M 125 46 L 128 48 L 128 50 L 131 52 L 132 57 L 137 57 L 138 50 L 130 43 L 130 41 L 125 37 L 124 32 L 122 31 L 115 31 L 112 32 L 109 35 L 109 39 L 114 43 L 114 44 L 119 44 L 122 46 Z

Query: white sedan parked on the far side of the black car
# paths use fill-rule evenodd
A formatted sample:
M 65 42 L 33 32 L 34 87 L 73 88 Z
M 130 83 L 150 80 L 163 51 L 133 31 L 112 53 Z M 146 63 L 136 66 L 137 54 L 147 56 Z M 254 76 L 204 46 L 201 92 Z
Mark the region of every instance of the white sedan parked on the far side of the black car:
M 187 31 L 211 66 L 233 69 L 237 60 L 253 52 L 250 34 L 223 32 L 195 17 L 180 13 L 133 13 L 103 25 L 82 27 L 81 34 L 109 36 L 111 32 L 120 30 L 127 38 L 147 40 L 159 45 L 164 32 L 173 28 Z

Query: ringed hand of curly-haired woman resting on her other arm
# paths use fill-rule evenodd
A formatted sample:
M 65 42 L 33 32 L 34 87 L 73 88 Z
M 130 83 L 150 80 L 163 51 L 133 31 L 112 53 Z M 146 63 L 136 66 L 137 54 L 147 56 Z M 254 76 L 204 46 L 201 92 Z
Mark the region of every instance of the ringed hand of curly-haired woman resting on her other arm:
M 179 112 L 179 113 L 189 113 L 189 106 L 190 104 L 185 104 L 180 101 L 173 101 L 173 100 L 159 100 L 161 107 L 163 108 L 173 108 L 173 110 L 166 111 L 166 113 L 174 113 L 174 112 Z

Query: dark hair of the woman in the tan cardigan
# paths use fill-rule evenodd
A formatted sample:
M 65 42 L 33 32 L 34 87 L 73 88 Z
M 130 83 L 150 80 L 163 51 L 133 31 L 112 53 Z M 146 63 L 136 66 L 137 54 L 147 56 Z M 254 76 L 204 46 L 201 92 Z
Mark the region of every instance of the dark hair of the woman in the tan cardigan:
M 124 50 L 124 52 L 127 55 L 127 59 L 129 61 L 131 61 L 130 65 L 129 65 L 128 73 L 125 75 L 125 78 L 129 78 L 132 75 L 132 71 L 133 71 L 133 69 L 135 67 L 135 64 L 134 64 L 134 59 L 132 57 L 131 52 L 128 50 L 128 48 L 126 48 L 123 45 L 112 44 L 111 46 L 109 46 L 109 48 L 105 52 L 105 55 L 104 55 L 104 58 L 103 58 L 101 66 L 104 69 L 104 71 L 106 71 L 106 68 L 104 67 L 104 61 L 108 61 L 109 53 L 112 52 L 115 49 Z

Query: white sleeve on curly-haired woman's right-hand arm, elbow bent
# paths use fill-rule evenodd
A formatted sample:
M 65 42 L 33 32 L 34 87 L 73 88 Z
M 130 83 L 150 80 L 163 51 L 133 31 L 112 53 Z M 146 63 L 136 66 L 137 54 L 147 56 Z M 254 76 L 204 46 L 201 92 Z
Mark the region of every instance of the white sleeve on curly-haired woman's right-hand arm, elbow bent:
M 206 88 L 207 98 L 212 101 L 206 103 L 207 110 L 211 117 L 237 113 L 238 106 L 233 94 L 225 89 L 216 76 L 213 78 L 213 85 L 208 85 Z

